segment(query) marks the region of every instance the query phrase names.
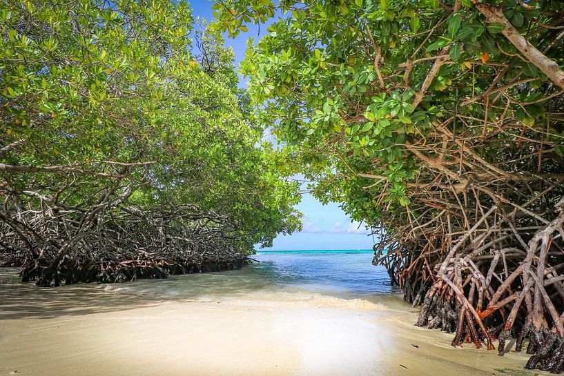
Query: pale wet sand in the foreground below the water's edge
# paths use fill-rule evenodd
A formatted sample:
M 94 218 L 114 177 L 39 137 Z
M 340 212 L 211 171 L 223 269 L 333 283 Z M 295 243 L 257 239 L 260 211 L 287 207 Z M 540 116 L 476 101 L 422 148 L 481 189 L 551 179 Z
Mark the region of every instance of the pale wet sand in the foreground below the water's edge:
M 534 375 L 525 354 L 452 348 L 452 335 L 416 328 L 417 310 L 393 295 L 200 301 L 1 281 L 0 375 Z

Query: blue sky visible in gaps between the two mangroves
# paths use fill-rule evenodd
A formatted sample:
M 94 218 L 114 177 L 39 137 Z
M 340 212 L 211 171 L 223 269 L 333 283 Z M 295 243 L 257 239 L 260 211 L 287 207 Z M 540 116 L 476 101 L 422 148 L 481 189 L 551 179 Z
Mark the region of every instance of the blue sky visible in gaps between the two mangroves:
M 208 21 L 213 19 L 211 0 L 191 1 L 194 17 L 201 17 Z M 266 32 L 263 25 L 259 28 L 249 25 L 249 31 L 239 34 L 235 39 L 225 38 L 227 46 L 235 52 L 235 66 L 238 67 L 244 58 L 246 40 L 250 37 L 255 41 Z M 244 87 L 244 82 L 241 83 Z M 311 195 L 305 194 L 298 210 L 304 214 L 302 232 L 289 236 L 280 235 L 274 240 L 272 248 L 267 250 L 316 250 L 316 249 L 370 249 L 372 237 L 369 232 L 344 214 L 337 204 L 322 205 Z

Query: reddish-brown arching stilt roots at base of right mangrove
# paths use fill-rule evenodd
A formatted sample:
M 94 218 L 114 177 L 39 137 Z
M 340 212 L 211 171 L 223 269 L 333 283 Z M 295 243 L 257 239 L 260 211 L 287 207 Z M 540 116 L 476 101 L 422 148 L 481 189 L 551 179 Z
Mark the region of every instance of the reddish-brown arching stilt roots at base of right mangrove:
M 405 299 L 421 306 L 417 326 L 454 333 L 453 346 L 474 343 L 494 350 L 498 339 L 499 355 L 510 337 L 516 338 L 517 351 L 528 339 L 526 351 L 533 356 L 525 368 L 562 373 L 561 205 L 545 226 L 521 226 L 518 232 L 492 206 L 451 248 L 443 237 L 429 237 L 427 244 L 434 247 L 418 253 L 385 253 L 380 244 L 373 263 L 387 266 L 405 289 Z M 516 239 L 522 247 L 509 244 Z

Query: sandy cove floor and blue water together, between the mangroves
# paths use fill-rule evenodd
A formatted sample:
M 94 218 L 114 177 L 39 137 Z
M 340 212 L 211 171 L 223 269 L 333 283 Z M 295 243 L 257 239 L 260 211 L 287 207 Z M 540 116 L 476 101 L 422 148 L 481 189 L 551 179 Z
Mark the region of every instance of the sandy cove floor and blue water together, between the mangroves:
M 242 270 L 54 289 L 2 269 L 0 375 L 528 374 L 524 353 L 453 348 L 451 334 L 414 326 L 418 309 L 369 252 L 256 258 Z

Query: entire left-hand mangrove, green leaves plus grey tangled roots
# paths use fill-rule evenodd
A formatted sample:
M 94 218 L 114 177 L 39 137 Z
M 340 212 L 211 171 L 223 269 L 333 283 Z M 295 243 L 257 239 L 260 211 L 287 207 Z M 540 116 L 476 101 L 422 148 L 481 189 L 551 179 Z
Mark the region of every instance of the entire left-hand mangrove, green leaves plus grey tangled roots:
M 298 228 L 233 53 L 193 23 L 185 1 L 0 1 L 0 253 L 24 277 Z

